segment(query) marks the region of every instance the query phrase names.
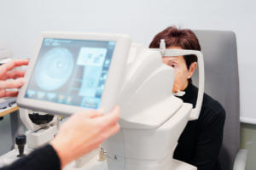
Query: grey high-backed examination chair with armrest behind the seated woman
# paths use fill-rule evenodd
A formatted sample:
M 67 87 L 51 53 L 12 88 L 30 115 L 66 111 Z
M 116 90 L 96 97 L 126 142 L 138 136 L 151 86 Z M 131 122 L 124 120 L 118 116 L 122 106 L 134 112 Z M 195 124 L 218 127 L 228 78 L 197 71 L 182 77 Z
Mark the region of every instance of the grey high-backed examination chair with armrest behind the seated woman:
M 236 35 L 233 31 L 195 31 L 205 62 L 205 93 L 226 111 L 219 154 L 222 170 L 244 170 L 247 150 L 240 150 L 240 100 Z M 197 75 L 193 79 L 197 84 Z

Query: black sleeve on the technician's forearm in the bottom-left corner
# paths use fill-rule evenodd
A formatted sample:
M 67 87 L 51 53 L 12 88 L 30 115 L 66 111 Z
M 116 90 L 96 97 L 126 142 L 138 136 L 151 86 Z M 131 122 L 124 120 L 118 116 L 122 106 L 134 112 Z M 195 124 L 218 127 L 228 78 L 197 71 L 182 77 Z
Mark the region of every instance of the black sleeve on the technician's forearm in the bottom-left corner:
M 60 170 L 61 161 L 50 144 L 45 145 L 31 154 L 20 158 L 8 167 L 0 170 Z

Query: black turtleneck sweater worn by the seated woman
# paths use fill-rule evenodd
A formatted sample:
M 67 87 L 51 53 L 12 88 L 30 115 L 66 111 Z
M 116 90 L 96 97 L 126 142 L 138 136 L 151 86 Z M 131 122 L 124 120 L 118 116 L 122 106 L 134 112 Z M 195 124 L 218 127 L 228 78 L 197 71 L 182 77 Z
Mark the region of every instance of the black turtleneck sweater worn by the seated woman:
M 198 88 L 189 82 L 181 99 L 195 107 Z M 218 153 L 223 141 L 225 111 L 218 101 L 204 94 L 198 120 L 189 121 L 174 152 L 174 158 L 198 170 L 220 170 Z

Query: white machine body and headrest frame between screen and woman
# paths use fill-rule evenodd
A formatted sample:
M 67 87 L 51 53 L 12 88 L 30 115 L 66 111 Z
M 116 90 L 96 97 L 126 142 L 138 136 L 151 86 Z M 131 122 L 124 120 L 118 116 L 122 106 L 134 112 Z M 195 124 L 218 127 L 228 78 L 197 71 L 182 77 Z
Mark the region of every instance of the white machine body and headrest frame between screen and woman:
M 162 64 L 159 50 L 132 44 L 125 81 L 119 93 L 119 133 L 102 146 L 109 170 L 196 169 L 173 160 L 177 139 L 189 120 L 198 118 L 203 96 L 204 71 L 200 52 L 166 50 L 165 56 L 198 56 L 200 86 L 197 105 L 183 103 L 172 94 L 174 71 Z M 180 168 L 177 168 L 180 167 Z

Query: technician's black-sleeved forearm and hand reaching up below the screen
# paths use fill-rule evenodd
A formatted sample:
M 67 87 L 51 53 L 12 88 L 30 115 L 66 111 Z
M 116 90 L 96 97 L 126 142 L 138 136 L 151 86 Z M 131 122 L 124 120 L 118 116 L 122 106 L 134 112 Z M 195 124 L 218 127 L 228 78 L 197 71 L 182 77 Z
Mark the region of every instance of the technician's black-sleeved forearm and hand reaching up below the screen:
M 70 161 L 94 150 L 119 131 L 119 107 L 103 116 L 102 111 L 84 111 L 63 123 L 50 144 L 33 151 L 0 170 L 58 170 Z

